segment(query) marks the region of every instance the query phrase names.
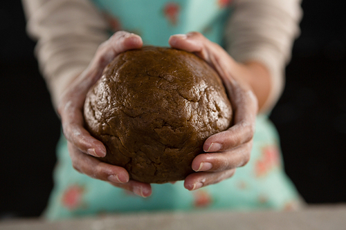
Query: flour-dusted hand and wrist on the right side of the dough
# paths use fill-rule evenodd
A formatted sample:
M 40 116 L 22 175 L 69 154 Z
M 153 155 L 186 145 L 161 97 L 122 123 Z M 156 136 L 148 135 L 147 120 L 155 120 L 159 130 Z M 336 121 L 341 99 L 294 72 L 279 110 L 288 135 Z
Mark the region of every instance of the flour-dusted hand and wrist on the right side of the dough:
M 197 155 L 192 162 L 192 169 L 197 173 L 188 175 L 184 186 L 188 190 L 195 190 L 230 178 L 237 167 L 244 166 L 250 160 L 258 112 L 257 95 L 253 93 L 257 90 L 253 90 L 251 81 L 257 70 L 263 74 L 263 81 L 269 82 L 269 75 L 264 67 L 257 66 L 255 62 L 237 63 L 221 46 L 198 32 L 173 35 L 169 43 L 172 48 L 194 52 L 217 70 L 234 111 L 234 125 L 208 137 L 203 144 L 206 153 Z M 264 86 L 268 87 L 266 84 Z M 259 90 L 266 92 L 263 88 Z

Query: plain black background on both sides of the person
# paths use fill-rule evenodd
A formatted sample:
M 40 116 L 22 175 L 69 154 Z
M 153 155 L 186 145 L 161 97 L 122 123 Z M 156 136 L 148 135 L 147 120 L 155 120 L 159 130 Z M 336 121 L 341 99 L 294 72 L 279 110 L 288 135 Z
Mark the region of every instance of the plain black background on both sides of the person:
M 302 8 L 302 34 L 271 119 L 302 197 L 346 202 L 346 7 L 342 0 L 305 0 Z M 0 35 L 0 218 L 37 216 L 53 186 L 60 123 L 19 0 L 1 2 Z

